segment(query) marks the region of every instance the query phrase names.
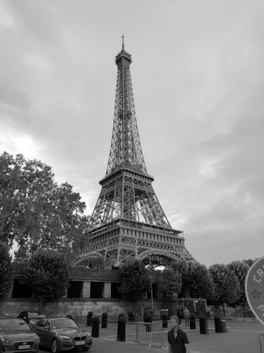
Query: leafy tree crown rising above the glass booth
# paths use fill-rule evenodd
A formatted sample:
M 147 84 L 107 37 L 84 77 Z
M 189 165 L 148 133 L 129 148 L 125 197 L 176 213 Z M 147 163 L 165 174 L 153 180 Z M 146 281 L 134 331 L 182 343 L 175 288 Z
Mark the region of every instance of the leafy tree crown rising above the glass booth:
M 215 285 L 213 277 L 205 265 L 196 261 L 190 261 L 186 264 L 185 283 L 187 284 L 191 298 L 215 297 Z

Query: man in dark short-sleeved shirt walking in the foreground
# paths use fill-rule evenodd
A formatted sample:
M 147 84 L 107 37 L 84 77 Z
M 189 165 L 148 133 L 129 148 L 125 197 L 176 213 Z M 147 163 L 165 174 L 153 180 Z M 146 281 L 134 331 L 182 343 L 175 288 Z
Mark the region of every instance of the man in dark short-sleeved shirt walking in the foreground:
M 170 318 L 171 331 L 168 332 L 168 353 L 189 353 L 189 341 L 185 332 L 179 329 L 177 316 Z

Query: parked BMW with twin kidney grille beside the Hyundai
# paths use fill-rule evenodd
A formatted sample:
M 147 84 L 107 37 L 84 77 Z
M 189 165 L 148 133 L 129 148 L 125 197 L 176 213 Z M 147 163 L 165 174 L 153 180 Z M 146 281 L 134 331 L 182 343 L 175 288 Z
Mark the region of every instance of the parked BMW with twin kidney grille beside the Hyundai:
M 40 337 L 40 346 L 51 348 L 52 353 L 73 348 L 88 351 L 92 347 L 90 332 L 78 327 L 70 318 L 41 319 L 31 327 Z

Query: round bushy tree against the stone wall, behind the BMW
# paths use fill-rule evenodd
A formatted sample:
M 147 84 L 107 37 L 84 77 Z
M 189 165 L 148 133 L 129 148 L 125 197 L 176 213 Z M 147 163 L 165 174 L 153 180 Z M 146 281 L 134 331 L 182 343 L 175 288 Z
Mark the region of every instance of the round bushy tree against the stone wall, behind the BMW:
M 69 260 L 64 254 L 52 249 L 37 249 L 25 262 L 24 279 L 35 297 L 42 302 L 57 300 L 67 293 Z

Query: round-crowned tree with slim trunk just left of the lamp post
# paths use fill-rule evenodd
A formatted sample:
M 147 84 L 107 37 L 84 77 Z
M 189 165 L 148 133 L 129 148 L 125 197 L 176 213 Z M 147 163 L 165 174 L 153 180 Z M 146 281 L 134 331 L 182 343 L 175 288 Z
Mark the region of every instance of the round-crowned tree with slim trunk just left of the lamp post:
M 150 272 L 145 268 L 142 261 L 128 258 L 120 266 L 122 285 L 119 291 L 124 297 L 133 301 L 134 315 L 136 315 L 136 301 L 141 300 L 152 289 Z

